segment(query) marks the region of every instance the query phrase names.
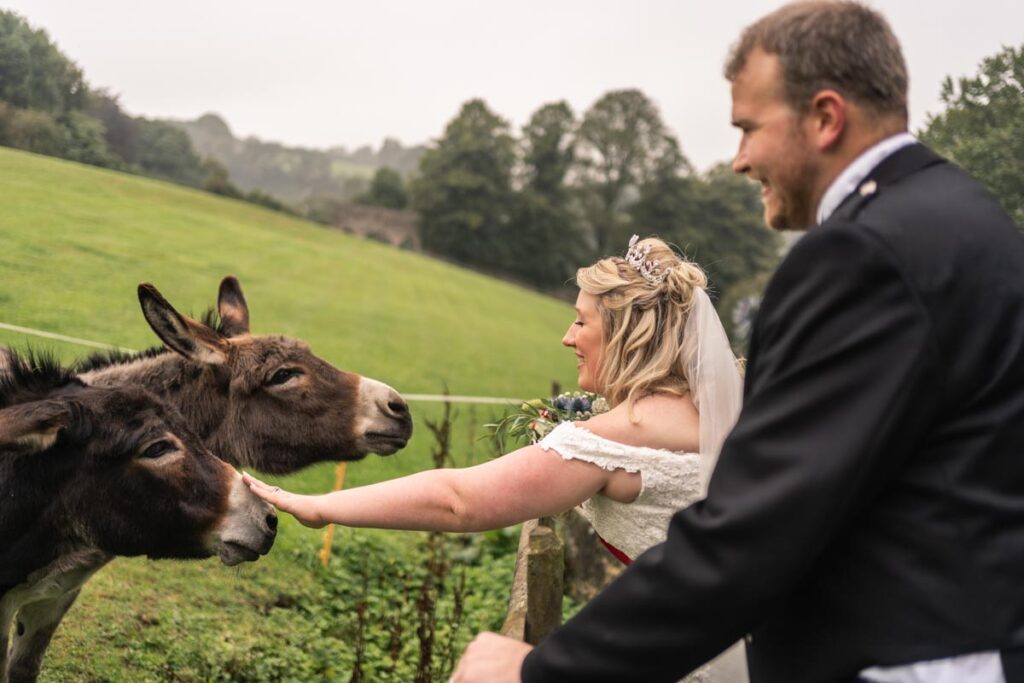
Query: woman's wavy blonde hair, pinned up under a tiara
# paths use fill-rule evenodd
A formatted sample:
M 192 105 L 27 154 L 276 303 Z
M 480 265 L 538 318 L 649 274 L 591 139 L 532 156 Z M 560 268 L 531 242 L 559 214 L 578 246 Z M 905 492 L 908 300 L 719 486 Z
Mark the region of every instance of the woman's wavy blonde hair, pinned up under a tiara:
M 689 390 L 683 330 L 696 288 L 708 286 L 700 266 L 680 257 L 669 245 L 647 238 L 646 258 L 658 262 L 665 280 L 652 284 L 617 256 L 577 270 L 577 286 L 597 298 L 604 328 L 604 359 L 599 372 L 601 393 L 612 407 L 633 404 L 664 391 L 682 395 Z

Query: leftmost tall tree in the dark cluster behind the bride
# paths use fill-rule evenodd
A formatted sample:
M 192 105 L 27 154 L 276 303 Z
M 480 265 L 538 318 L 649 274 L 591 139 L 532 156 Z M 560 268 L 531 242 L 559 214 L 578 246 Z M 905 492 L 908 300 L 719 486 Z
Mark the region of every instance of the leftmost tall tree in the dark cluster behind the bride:
M 424 248 L 464 263 L 506 262 L 514 164 L 508 124 L 481 99 L 463 104 L 413 184 Z

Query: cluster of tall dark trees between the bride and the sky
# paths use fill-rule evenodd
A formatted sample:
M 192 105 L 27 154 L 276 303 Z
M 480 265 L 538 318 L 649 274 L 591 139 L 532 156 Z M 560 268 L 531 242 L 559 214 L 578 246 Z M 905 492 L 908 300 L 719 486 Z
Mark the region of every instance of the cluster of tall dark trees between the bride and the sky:
M 515 135 L 463 104 L 410 186 L 425 249 L 553 289 L 632 233 L 657 234 L 709 271 L 718 295 L 770 270 L 776 236 L 756 189 L 728 168 L 694 172 L 657 108 L 616 90 L 578 118 L 541 106 Z

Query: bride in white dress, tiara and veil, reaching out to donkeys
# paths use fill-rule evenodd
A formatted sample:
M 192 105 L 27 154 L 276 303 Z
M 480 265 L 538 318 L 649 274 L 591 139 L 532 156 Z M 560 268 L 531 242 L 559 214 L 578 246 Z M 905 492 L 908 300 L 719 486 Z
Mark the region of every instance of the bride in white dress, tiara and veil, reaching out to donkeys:
M 665 541 L 700 500 L 741 402 L 741 380 L 705 291 L 707 278 L 660 240 L 577 272 L 577 316 L 562 339 L 580 387 L 610 410 L 560 424 L 536 444 L 463 469 L 434 469 L 323 496 L 245 475 L 254 494 L 307 526 L 479 531 L 580 506 L 629 563 Z M 746 680 L 741 645 L 687 682 Z

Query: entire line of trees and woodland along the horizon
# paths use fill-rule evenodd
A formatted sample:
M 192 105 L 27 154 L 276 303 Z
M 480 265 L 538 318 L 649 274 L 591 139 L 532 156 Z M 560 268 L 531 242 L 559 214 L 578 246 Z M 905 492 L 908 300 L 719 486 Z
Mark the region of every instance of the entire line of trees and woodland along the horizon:
M 942 101 L 945 110 L 919 137 L 1024 223 L 1024 45 L 1004 47 L 973 77 L 947 78 Z M 581 264 L 623 253 L 630 234 L 657 234 L 708 270 L 734 338 L 743 336 L 779 248 L 761 227 L 756 188 L 727 164 L 697 173 L 657 108 L 635 89 L 608 92 L 581 116 L 564 101 L 544 104 L 518 131 L 472 99 L 425 148 L 385 143 L 377 162 L 386 157 L 396 168 L 382 166 L 369 182 L 342 181 L 337 165 L 375 153 L 250 139 L 244 159 L 224 158 L 223 150 L 241 147 L 223 121 L 130 116 L 116 95 L 90 88 L 44 31 L 0 10 L 0 144 L 322 222 L 350 201 L 412 209 L 427 251 L 549 292 L 564 291 Z M 302 173 L 283 177 L 284 158 Z M 239 168 L 252 177 L 237 183 Z M 273 189 L 264 186 L 271 179 Z

